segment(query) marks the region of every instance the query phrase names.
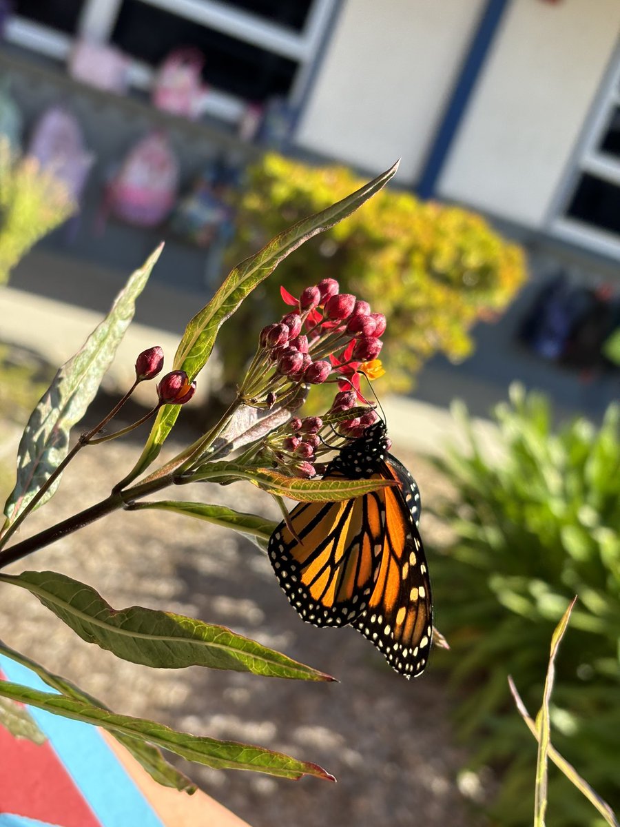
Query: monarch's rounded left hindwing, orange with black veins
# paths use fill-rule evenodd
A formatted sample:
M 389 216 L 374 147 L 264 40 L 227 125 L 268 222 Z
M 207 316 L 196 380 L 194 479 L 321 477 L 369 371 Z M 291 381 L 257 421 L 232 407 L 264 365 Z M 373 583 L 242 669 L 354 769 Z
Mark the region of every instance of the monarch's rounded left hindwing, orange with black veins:
M 323 479 L 342 478 L 328 469 Z M 378 475 L 377 475 L 378 476 Z M 269 539 L 269 560 L 293 609 L 316 626 L 351 623 L 368 605 L 384 547 L 381 492 L 300 503 Z M 296 536 L 295 536 L 296 535 Z

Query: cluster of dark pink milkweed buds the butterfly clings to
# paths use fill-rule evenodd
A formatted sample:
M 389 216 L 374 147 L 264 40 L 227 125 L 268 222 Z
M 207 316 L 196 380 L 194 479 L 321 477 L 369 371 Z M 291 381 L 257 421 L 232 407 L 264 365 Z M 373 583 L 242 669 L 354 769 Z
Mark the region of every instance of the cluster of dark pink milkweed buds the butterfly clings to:
M 384 373 L 377 356 L 385 317 L 338 289 L 336 280 L 325 279 L 296 299 L 280 288 L 292 309 L 260 331 L 239 390 L 243 404 L 271 409 L 291 404 L 300 387 L 333 383 L 336 395 L 323 417 L 293 416 L 263 443 L 261 459 L 294 476 L 320 473 L 322 454 L 361 436 L 378 419 L 361 394 L 360 375 L 374 380 Z

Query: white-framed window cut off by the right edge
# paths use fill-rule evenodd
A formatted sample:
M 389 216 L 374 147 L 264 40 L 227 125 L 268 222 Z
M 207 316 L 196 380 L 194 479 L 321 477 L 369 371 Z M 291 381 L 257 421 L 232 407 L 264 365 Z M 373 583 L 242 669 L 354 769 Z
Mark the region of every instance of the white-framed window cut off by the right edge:
M 554 212 L 557 237 L 605 255 L 620 253 L 620 48 Z

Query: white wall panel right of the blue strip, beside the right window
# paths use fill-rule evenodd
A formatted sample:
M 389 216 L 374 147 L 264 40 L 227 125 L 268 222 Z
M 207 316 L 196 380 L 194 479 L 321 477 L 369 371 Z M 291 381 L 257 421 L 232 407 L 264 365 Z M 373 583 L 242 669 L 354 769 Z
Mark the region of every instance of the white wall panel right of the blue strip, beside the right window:
M 438 191 L 545 226 L 620 34 L 620 0 L 513 0 Z

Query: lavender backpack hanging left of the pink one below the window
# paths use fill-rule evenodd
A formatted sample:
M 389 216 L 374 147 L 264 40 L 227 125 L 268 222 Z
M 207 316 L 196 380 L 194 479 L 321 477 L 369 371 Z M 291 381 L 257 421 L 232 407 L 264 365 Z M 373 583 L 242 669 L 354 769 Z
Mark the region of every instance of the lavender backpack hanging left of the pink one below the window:
M 79 204 L 95 155 L 85 148 L 82 127 L 73 112 L 60 106 L 45 109 L 32 131 L 26 154 L 60 179 Z

